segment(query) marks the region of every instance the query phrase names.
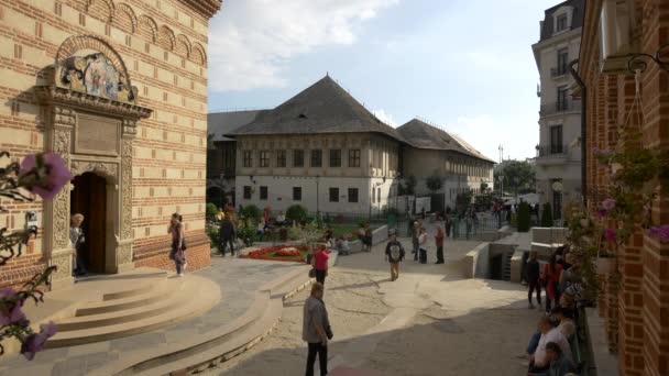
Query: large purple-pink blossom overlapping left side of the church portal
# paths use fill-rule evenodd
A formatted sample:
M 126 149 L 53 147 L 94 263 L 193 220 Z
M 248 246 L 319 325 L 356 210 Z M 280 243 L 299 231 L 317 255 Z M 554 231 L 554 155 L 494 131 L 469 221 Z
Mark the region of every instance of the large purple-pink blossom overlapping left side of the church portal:
M 72 178 L 56 153 L 31 154 L 21 162 L 20 181 L 44 200 L 52 200 Z

